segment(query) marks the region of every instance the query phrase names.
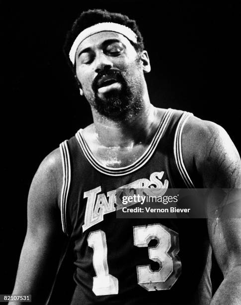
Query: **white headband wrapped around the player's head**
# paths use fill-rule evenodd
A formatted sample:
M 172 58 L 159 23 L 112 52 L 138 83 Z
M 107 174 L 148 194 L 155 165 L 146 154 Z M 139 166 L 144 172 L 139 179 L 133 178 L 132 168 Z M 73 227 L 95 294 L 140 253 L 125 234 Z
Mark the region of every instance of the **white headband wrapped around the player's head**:
M 136 33 L 134 33 L 132 29 L 130 29 L 129 27 L 127 27 L 125 25 L 122 25 L 119 23 L 114 23 L 114 22 L 102 22 L 102 23 L 94 24 L 90 27 L 85 28 L 76 37 L 76 40 L 74 41 L 74 43 L 71 47 L 70 53 L 69 53 L 70 60 L 73 63 L 73 65 L 75 64 L 76 51 L 77 51 L 77 48 L 80 45 L 80 43 L 88 36 L 91 36 L 95 33 L 103 32 L 103 31 L 111 31 L 111 32 L 120 33 L 120 34 L 126 36 L 126 38 L 128 38 L 132 42 L 137 43 Z

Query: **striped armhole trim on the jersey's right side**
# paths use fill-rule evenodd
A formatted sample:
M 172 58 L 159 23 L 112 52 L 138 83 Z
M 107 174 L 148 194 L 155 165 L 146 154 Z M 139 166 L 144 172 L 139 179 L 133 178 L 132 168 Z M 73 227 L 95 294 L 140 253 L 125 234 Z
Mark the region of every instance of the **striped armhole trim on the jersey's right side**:
M 181 135 L 182 135 L 183 127 L 184 127 L 186 121 L 192 115 L 193 115 L 192 113 L 184 111 L 184 113 L 182 114 L 182 116 L 178 122 L 176 132 L 175 132 L 175 138 L 174 138 L 174 156 L 175 156 L 176 166 L 177 166 L 177 169 L 178 169 L 184 183 L 186 184 L 186 186 L 188 188 L 195 188 L 195 186 L 194 186 L 194 184 L 186 170 L 184 162 L 183 162 L 182 149 L 181 149 Z

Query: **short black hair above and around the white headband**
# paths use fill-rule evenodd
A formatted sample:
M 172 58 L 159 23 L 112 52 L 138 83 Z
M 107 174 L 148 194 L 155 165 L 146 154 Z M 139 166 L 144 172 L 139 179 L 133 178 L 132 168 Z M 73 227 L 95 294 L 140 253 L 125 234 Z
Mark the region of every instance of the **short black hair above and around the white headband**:
M 136 24 L 135 20 L 130 19 L 128 16 L 123 15 L 121 13 L 109 12 L 105 9 L 89 9 L 87 11 L 83 11 L 80 16 L 75 20 L 71 30 L 67 33 L 67 37 L 64 44 L 64 54 L 67 58 L 67 61 L 71 68 L 74 70 L 75 66 L 73 66 L 72 62 L 69 58 L 70 49 L 76 39 L 76 37 L 80 34 L 82 30 L 85 28 L 92 26 L 99 22 L 115 22 L 119 24 L 123 24 L 132 29 L 137 35 L 137 43 L 132 41 L 131 44 L 134 46 L 137 52 L 141 52 L 144 50 L 144 42 L 142 34 L 139 31 L 139 28 Z M 74 71 L 75 73 L 75 71 Z

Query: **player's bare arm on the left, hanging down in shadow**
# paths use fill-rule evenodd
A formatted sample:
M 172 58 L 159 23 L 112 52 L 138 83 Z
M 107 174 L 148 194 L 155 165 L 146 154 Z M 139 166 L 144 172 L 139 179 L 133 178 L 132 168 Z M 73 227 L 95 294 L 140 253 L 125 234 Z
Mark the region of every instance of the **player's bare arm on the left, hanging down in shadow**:
M 12 294 L 31 294 L 33 304 L 48 302 L 67 248 L 57 201 L 59 160 L 58 150 L 43 160 L 28 196 L 27 233 Z

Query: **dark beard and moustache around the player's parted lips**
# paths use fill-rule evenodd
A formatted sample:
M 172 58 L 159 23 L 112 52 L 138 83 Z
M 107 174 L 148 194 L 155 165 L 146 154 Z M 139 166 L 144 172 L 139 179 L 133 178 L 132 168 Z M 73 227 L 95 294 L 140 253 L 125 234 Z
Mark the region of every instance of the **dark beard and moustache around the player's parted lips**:
M 97 81 L 93 82 L 94 99 L 91 106 L 102 116 L 114 121 L 123 121 L 130 116 L 137 115 L 143 108 L 143 80 L 139 76 L 130 76 L 127 72 L 115 71 L 117 81 L 121 83 L 121 90 L 112 90 L 100 98 L 98 95 Z M 102 73 L 108 74 L 108 72 Z M 139 74 L 140 75 L 140 74 Z

